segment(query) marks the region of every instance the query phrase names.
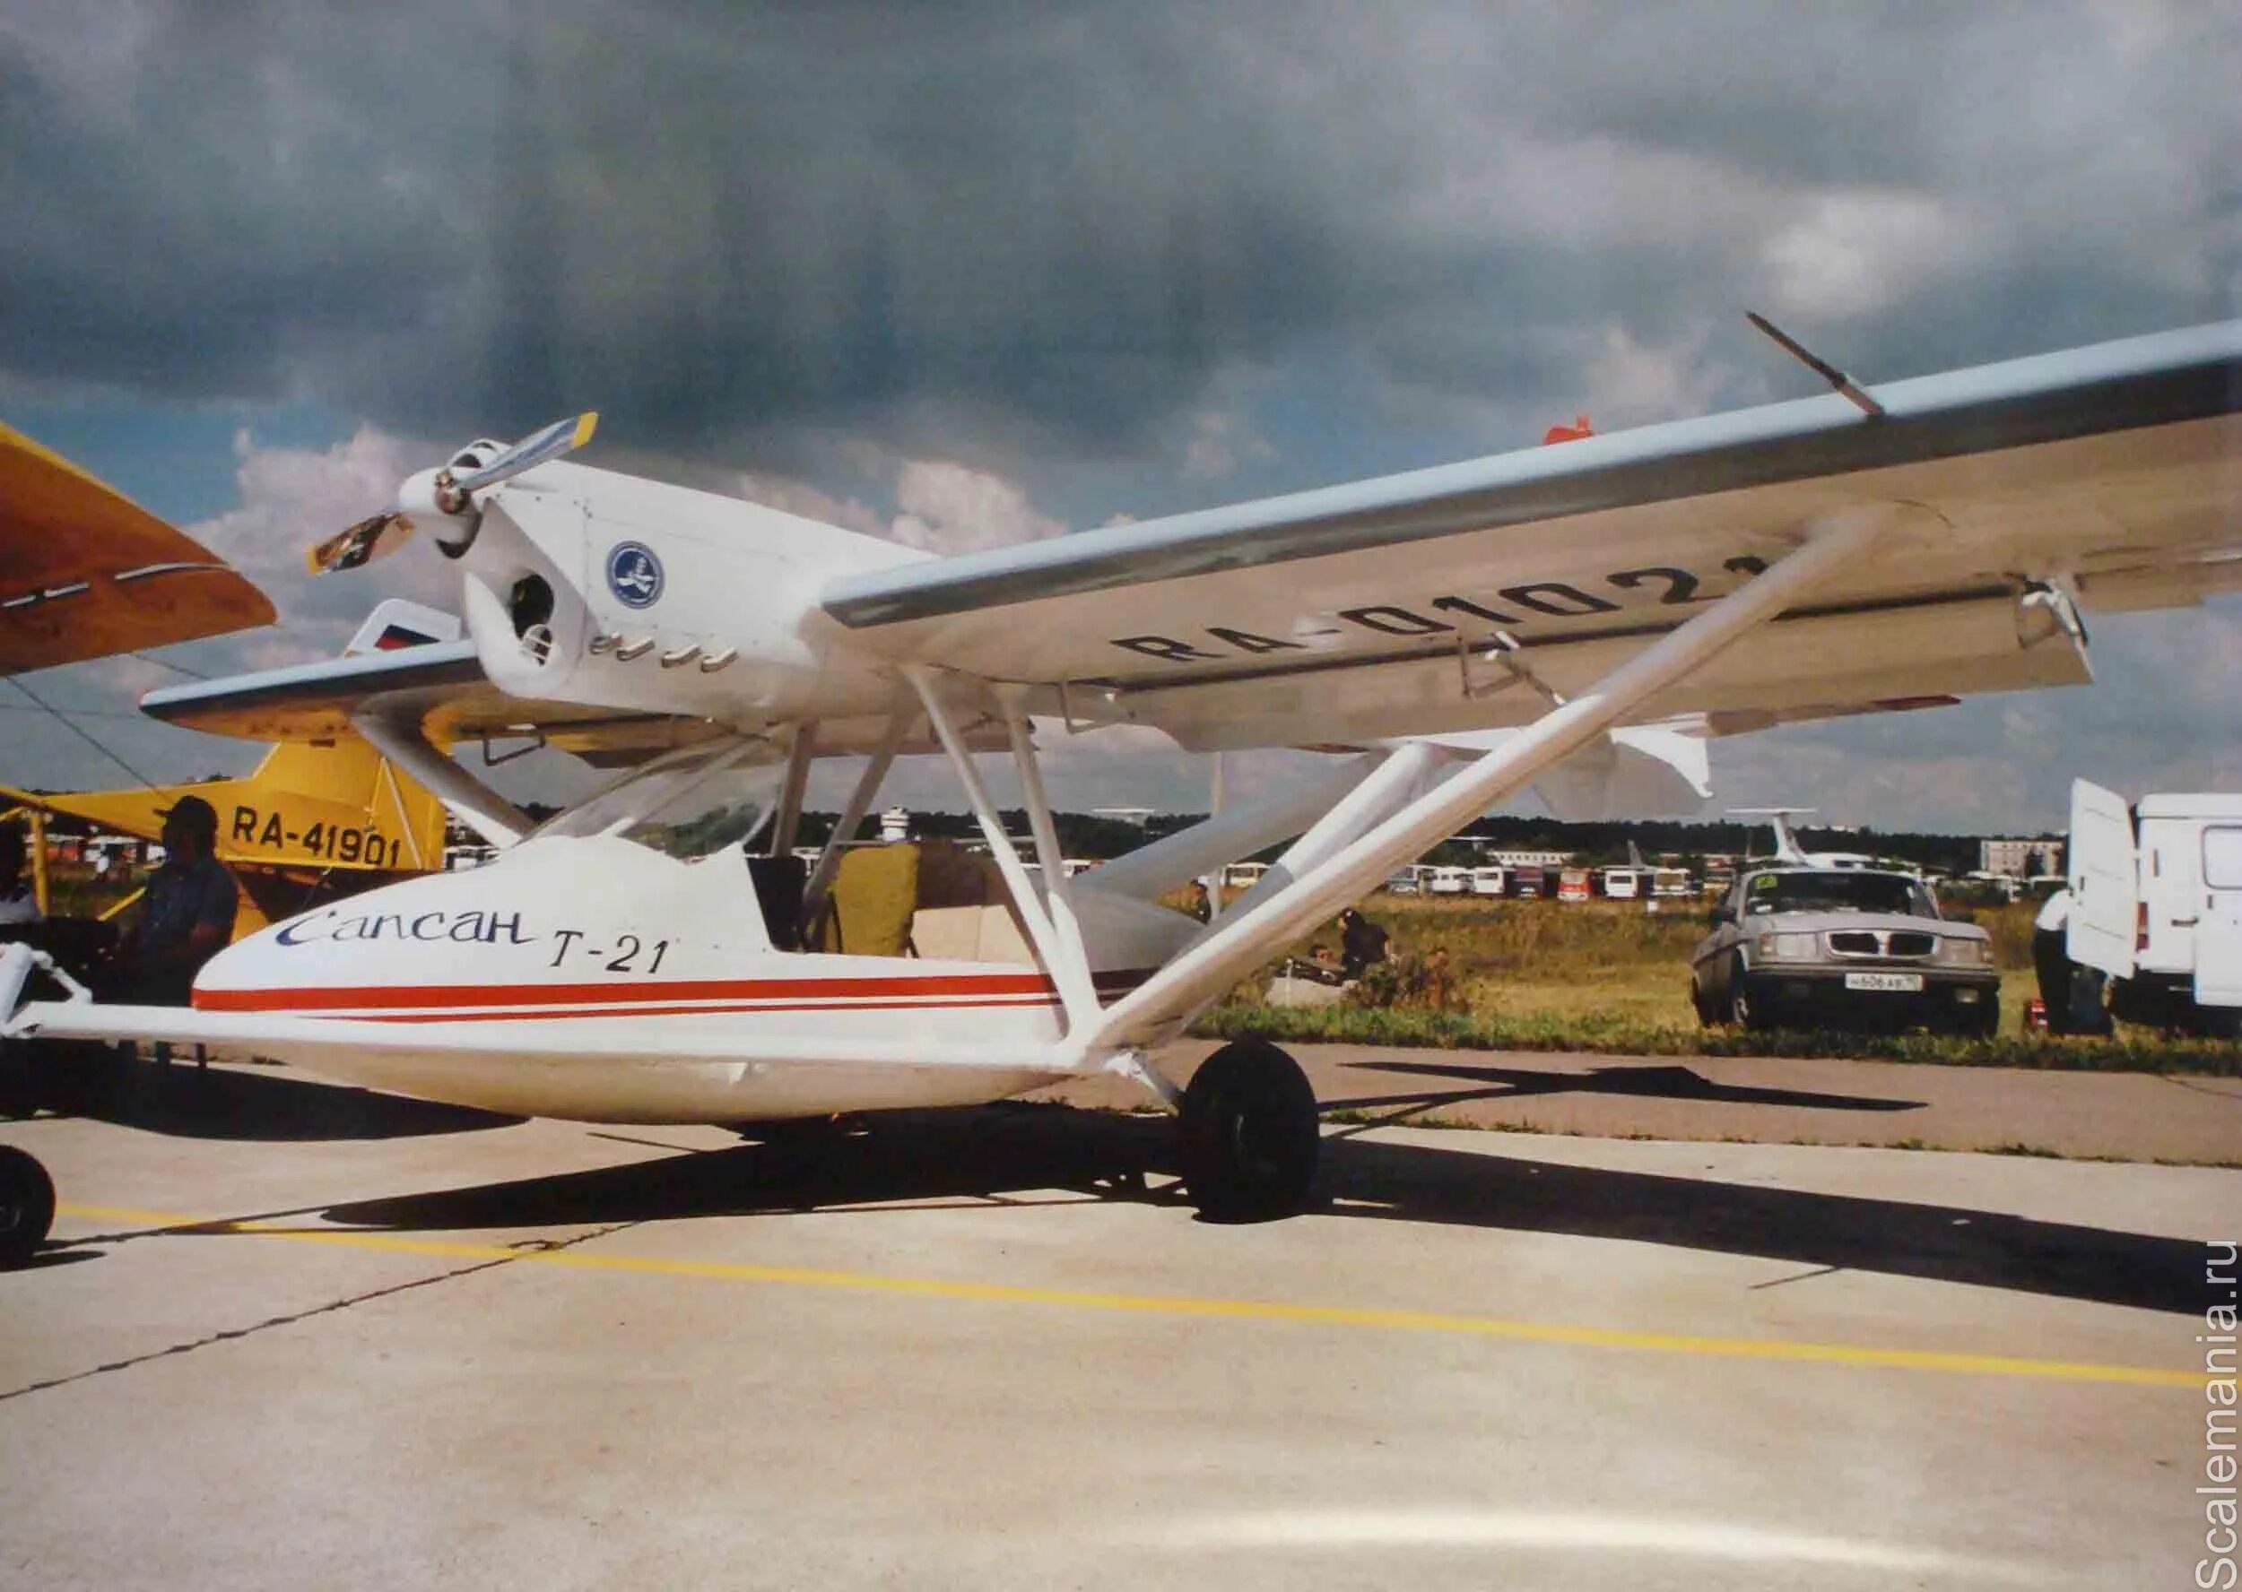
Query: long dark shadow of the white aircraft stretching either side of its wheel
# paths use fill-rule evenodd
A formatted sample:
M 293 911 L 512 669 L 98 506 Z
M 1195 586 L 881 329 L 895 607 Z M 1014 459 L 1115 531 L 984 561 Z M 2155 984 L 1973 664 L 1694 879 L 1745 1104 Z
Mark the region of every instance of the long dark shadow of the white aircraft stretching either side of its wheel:
M 865 1135 L 688 1153 L 590 1173 L 365 1200 L 348 1227 L 462 1231 L 1007 1202 L 1072 1188 L 1182 1206 L 1173 1123 L 1056 1108 L 915 1112 Z M 2018 1215 L 1560 1166 L 1424 1144 L 1325 1139 L 1325 1218 L 1444 1222 L 1760 1256 L 2143 1309 L 2202 1307 L 2202 1247 Z

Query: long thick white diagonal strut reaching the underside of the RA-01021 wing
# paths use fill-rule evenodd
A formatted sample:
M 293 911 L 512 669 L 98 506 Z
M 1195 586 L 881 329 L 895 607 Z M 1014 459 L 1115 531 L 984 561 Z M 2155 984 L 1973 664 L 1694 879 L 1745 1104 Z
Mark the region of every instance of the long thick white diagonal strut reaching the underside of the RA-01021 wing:
M 1439 789 L 1419 796 L 1361 839 L 1314 863 L 1291 886 L 1258 906 L 1226 913 L 1213 933 L 1108 1007 L 1103 1022 L 1085 1031 L 1081 1058 L 1159 1043 L 1182 1013 L 1244 978 L 1278 946 L 1359 899 L 1392 868 L 1433 841 L 1455 834 L 1542 769 L 1563 762 L 1592 738 L 1641 711 L 1747 630 L 1773 619 L 1836 570 L 1870 558 L 1879 552 L 1879 543 L 1894 540 L 1910 520 L 1921 518 L 1924 511 L 1915 505 L 1863 505 L 1838 509 L 1809 525 L 1798 552 L 1764 574 L 1643 648 L 1565 706 L 1545 713 Z

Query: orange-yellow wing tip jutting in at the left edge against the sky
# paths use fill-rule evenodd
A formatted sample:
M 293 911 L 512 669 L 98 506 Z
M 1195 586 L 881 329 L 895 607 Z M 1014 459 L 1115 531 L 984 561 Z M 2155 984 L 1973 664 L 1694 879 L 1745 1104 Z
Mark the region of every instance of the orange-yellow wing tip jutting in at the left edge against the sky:
M 0 426 L 0 675 L 271 621 L 209 547 Z

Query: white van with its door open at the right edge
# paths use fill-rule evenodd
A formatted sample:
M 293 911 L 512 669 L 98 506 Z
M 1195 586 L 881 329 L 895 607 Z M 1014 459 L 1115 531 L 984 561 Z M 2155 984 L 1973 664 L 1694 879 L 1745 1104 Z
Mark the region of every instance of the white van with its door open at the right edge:
M 2128 1022 L 2242 1034 L 2242 796 L 2072 783 L 2072 962 Z

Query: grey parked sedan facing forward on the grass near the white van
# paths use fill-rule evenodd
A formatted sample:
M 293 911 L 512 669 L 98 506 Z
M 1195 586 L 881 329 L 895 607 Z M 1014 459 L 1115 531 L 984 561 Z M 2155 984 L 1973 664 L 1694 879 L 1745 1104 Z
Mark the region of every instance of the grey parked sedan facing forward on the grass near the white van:
M 2000 973 L 1975 924 L 1946 922 L 1921 879 L 1874 868 L 1738 874 L 1690 953 L 1704 1025 L 1993 1034 Z

